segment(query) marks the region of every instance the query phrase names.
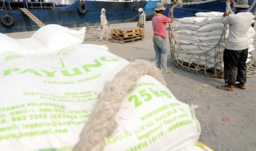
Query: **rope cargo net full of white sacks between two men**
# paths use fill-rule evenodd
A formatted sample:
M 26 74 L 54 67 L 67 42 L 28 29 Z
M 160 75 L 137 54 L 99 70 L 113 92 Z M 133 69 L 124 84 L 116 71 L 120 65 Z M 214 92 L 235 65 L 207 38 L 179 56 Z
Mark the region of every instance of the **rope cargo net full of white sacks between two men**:
M 208 77 L 224 78 L 223 51 L 228 26 L 222 24 L 223 13 L 200 12 L 196 15 L 178 19 L 178 24 L 169 25 L 171 59 L 181 69 Z M 252 55 L 254 36 L 255 31 L 250 27 L 247 77 L 256 76 L 256 59 Z

